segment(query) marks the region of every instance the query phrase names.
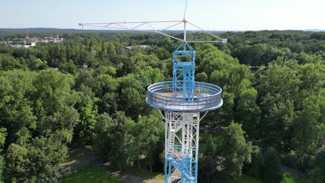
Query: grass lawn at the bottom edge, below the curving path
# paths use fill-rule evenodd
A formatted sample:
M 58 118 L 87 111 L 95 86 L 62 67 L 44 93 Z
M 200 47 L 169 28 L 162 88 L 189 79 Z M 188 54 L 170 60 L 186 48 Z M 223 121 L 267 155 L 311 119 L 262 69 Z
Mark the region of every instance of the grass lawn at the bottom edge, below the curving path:
M 117 178 L 110 176 L 99 166 L 84 166 L 71 173 L 63 175 L 63 183 L 93 182 L 93 183 L 121 183 Z

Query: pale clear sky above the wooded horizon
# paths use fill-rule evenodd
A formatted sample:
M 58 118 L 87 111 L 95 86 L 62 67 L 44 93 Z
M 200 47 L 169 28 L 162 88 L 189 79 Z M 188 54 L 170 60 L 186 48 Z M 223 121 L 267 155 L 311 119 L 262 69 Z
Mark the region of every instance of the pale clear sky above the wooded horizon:
M 181 20 L 184 8 L 185 0 L 0 0 L 0 28 Z M 185 18 L 204 30 L 325 30 L 325 0 L 188 0 Z

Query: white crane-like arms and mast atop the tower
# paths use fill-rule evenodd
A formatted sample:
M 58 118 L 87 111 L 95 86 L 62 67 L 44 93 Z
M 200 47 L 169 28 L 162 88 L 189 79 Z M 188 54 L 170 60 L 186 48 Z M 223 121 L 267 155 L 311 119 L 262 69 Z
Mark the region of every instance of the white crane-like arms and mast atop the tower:
M 100 28 L 110 28 L 110 29 L 116 29 L 116 30 L 135 30 L 135 31 L 140 31 L 140 32 L 147 32 L 147 33 L 158 33 L 161 35 L 165 35 L 167 37 L 170 37 L 174 40 L 178 40 L 181 42 L 222 42 L 226 43 L 227 39 L 222 39 L 220 37 L 217 37 L 216 35 L 213 35 L 212 33 L 209 33 L 206 30 L 203 30 L 202 28 L 199 28 L 199 26 L 195 26 L 194 24 L 190 23 L 189 21 L 186 21 L 185 15 L 186 15 L 186 10 L 188 6 L 188 1 L 185 3 L 185 11 L 184 11 L 184 17 L 183 20 L 163 20 L 163 21 L 122 21 L 122 22 L 107 22 L 107 23 L 79 23 L 79 26 L 90 26 L 90 27 L 100 27 Z M 174 23 L 172 26 L 167 26 L 166 28 L 162 28 L 158 30 L 158 28 L 155 28 L 153 24 L 166 24 L 166 23 Z M 174 37 L 173 35 L 169 35 L 166 33 L 166 30 L 169 30 L 169 28 L 173 28 L 175 26 L 178 26 L 179 24 L 184 24 L 184 36 L 183 40 Z M 212 37 L 217 38 L 217 40 L 187 40 L 186 39 L 186 26 L 187 24 L 190 24 L 191 26 L 194 26 L 195 28 L 198 28 L 201 30 L 203 33 L 208 33 Z M 144 26 L 149 26 L 149 29 L 141 29 L 144 28 Z

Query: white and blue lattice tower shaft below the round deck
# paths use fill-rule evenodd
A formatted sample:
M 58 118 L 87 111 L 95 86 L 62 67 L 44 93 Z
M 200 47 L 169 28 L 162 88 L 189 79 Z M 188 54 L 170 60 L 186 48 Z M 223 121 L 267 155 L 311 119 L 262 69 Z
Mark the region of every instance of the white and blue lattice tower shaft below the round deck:
M 197 182 L 199 112 L 165 112 L 165 183 Z

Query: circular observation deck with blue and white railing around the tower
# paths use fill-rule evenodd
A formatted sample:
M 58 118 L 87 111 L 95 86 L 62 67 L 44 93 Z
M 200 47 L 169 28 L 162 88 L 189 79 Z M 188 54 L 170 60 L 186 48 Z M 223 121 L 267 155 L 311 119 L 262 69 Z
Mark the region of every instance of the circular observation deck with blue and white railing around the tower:
M 194 97 L 173 96 L 173 82 L 158 82 L 148 87 L 146 101 L 151 107 L 174 112 L 205 112 L 223 104 L 222 89 L 206 82 L 194 82 Z

